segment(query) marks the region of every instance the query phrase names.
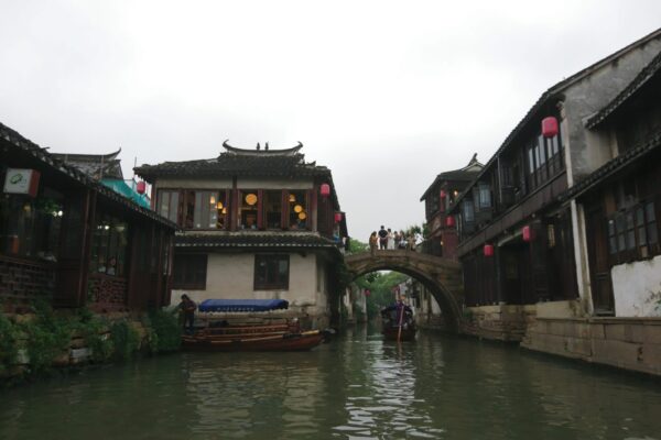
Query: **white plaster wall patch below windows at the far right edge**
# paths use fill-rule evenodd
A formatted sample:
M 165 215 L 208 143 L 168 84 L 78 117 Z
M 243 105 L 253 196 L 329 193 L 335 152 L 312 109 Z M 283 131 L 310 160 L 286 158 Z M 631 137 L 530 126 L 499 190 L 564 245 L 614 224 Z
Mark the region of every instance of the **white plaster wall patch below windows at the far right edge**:
M 661 317 L 661 255 L 610 271 L 617 317 Z

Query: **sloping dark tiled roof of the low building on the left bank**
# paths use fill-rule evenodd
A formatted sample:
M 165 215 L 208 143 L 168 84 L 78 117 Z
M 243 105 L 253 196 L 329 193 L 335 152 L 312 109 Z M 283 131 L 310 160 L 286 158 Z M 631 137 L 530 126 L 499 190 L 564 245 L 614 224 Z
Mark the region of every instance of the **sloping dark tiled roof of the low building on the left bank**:
M 17 131 L 10 129 L 9 127 L 0 123 L 0 139 L 7 141 L 11 145 L 17 148 L 24 151 L 30 154 L 37 161 L 44 163 L 46 166 L 52 167 L 53 169 L 68 176 L 69 178 L 78 182 L 79 184 L 93 188 L 95 191 L 100 194 L 107 199 L 113 200 L 132 211 L 136 211 L 142 216 L 145 216 L 152 220 L 158 221 L 161 224 L 164 224 L 172 229 L 177 229 L 176 224 L 171 222 L 170 220 L 159 216 L 151 209 L 142 208 L 141 206 L 136 205 L 133 201 L 127 199 L 123 196 L 115 193 L 112 189 L 101 185 L 99 182 L 93 179 L 87 174 L 82 172 L 75 166 L 68 165 L 64 163 L 62 160 L 55 157 L 55 155 L 48 153 L 45 148 L 42 148 L 34 142 L 23 138 Z

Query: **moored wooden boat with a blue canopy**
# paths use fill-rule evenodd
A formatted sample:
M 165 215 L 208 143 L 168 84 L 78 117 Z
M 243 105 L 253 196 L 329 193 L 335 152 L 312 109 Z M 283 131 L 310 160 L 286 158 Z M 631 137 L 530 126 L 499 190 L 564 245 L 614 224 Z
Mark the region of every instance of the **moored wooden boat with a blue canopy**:
M 288 307 L 285 300 L 207 299 L 199 305 L 203 312 L 268 311 Z M 202 351 L 304 351 L 322 343 L 324 333 L 302 331 L 297 320 L 267 324 L 230 324 L 213 322 L 193 334 L 182 337 L 186 350 Z

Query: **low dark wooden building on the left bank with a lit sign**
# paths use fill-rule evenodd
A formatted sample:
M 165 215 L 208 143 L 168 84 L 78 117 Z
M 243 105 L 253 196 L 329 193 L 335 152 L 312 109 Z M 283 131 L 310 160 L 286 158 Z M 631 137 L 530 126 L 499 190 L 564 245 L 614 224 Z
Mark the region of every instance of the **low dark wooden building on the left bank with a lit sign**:
M 170 302 L 175 226 L 86 170 L 0 124 L 0 301 L 9 311 L 35 299 L 96 311 Z

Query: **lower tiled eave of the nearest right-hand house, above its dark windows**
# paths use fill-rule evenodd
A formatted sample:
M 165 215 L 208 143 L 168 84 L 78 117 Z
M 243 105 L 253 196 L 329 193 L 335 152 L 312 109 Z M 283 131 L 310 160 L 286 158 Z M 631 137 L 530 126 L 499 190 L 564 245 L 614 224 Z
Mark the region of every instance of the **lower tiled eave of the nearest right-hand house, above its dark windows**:
M 583 180 L 578 182 L 570 189 L 559 196 L 561 201 L 570 200 L 594 188 L 600 182 L 622 170 L 636 161 L 642 160 L 643 156 L 651 153 L 653 150 L 661 147 L 661 131 L 652 134 L 644 143 L 635 148 L 627 151 L 624 154 L 610 160 L 595 172 L 590 173 Z

